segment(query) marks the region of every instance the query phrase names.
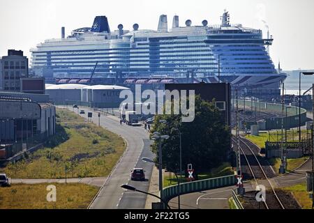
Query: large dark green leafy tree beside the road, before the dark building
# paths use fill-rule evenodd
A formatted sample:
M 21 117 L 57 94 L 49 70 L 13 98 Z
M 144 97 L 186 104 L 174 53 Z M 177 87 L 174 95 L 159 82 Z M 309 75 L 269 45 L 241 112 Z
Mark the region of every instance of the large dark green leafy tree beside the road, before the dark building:
M 159 123 L 166 120 L 167 123 Z M 195 119 L 182 123 L 181 115 L 156 115 L 151 132 L 168 134 L 169 139 L 162 141 L 163 168 L 179 170 L 179 132 L 181 131 L 182 169 L 193 164 L 197 172 L 209 171 L 227 160 L 230 148 L 230 130 L 223 121 L 221 112 L 213 102 L 207 102 L 195 96 Z M 151 146 L 158 160 L 159 141 Z

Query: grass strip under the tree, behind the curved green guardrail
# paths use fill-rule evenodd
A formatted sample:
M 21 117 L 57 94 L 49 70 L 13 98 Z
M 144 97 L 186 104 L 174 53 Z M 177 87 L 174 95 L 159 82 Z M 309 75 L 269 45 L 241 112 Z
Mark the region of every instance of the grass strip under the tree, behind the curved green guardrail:
M 207 173 L 198 174 L 198 180 L 215 178 L 215 177 L 219 177 L 219 176 L 228 176 L 228 175 L 232 175 L 232 174 L 234 174 L 234 171 L 233 171 L 230 163 L 225 162 L 222 165 L 220 165 L 219 167 L 211 169 L 211 171 L 209 171 Z M 178 177 L 180 178 L 180 176 L 178 176 Z M 181 180 L 182 180 L 181 181 L 182 183 L 188 182 L 188 180 L 186 180 L 185 176 L 182 176 Z M 170 172 L 165 173 L 165 176 L 163 178 L 163 187 L 168 187 L 171 185 L 177 185 L 177 183 L 178 183 L 177 178 L 174 176 L 173 173 L 170 173 Z

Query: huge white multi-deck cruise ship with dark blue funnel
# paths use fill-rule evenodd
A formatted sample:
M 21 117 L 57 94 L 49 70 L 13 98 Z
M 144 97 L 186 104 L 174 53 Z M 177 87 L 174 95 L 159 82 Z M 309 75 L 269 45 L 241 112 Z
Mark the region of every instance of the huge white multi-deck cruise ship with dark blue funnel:
M 175 15 L 168 29 L 167 15 L 160 15 L 156 30 L 119 24 L 110 31 L 107 17 L 97 16 L 91 27 L 75 29 L 67 38 L 62 27 L 61 38 L 31 49 L 31 70 L 57 84 L 84 84 L 93 76 L 125 84 L 228 82 L 243 89 L 278 89 L 286 75 L 269 56 L 273 38 L 230 24 L 227 11 L 220 20 L 195 26 L 186 20 L 179 26 Z

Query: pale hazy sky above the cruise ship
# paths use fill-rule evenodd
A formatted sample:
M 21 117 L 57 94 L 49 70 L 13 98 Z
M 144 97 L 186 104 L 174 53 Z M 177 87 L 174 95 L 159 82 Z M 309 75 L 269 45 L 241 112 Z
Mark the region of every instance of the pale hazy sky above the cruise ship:
M 7 49 L 29 49 L 48 38 L 59 38 L 61 26 L 66 35 L 76 28 L 91 26 L 96 15 L 106 15 L 110 29 L 123 24 L 131 29 L 157 29 L 159 15 L 179 15 L 180 26 L 187 19 L 200 25 L 220 24 L 223 10 L 230 11 L 231 23 L 262 29 L 267 22 L 274 45 L 271 58 L 284 70 L 314 68 L 313 0 L 0 0 L 0 56 Z

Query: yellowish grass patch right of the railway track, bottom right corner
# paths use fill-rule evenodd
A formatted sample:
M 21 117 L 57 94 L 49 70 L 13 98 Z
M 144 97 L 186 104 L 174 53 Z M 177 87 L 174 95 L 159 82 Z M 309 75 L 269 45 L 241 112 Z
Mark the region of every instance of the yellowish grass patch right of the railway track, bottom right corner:
M 312 199 L 308 197 L 308 192 L 306 191 L 306 183 L 294 185 L 291 187 L 284 187 L 283 190 L 292 192 L 293 196 L 303 209 L 312 208 Z

